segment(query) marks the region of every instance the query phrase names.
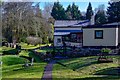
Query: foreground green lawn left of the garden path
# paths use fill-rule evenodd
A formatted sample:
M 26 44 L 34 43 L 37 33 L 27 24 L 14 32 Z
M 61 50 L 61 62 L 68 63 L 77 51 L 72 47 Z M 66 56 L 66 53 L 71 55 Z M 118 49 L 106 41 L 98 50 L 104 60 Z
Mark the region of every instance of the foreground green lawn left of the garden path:
M 16 55 L 2 57 L 2 78 L 41 78 L 44 72 L 45 62 L 34 63 L 33 66 L 24 68 L 22 65 L 27 61 Z

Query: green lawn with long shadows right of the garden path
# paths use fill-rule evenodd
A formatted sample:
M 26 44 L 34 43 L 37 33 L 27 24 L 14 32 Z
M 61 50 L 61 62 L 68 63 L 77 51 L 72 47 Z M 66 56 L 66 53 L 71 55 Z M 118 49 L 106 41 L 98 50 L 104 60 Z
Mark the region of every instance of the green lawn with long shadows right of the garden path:
M 54 79 L 91 79 L 91 80 L 104 80 L 105 77 L 101 77 L 102 75 L 106 76 L 106 79 L 109 78 L 118 78 L 118 76 L 112 76 L 111 74 L 117 73 L 115 69 L 118 67 L 118 57 L 113 56 L 113 63 L 97 63 L 97 56 L 92 57 L 81 57 L 67 60 L 60 60 L 59 62 L 66 65 L 66 67 L 55 64 L 53 68 L 53 78 Z M 111 73 L 111 74 L 110 74 Z M 99 78 L 97 78 L 99 77 Z M 96 78 L 96 79 L 94 79 Z M 120 77 L 119 77 L 120 78 Z

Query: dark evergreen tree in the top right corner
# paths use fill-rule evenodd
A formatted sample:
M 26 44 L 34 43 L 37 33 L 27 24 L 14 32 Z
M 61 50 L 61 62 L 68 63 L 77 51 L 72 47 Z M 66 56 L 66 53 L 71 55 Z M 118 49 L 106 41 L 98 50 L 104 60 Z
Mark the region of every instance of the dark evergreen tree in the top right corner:
M 107 14 L 108 14 L 108 22 L 120 21 L 120 1 L 109 2 Z

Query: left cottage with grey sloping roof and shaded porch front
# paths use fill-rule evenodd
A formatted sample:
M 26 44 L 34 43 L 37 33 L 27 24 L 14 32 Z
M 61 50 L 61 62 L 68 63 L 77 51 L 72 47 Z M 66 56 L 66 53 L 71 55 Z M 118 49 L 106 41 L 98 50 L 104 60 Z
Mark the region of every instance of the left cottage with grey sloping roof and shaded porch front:
M 82 27 L 88 26 L 89 20 L 56 20 L 54 23 L 54 46 L 82 47 Z

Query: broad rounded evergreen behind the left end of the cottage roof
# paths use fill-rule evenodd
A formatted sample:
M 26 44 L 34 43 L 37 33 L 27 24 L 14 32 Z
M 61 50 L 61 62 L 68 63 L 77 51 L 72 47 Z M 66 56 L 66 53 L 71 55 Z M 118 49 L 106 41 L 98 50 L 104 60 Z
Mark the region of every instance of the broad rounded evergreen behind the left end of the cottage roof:
M 51 16 L 55 20 L 64 20 L 66 19 L 66 14 L 63 6 L 59 2 L 55 2 L 52 8 Z

